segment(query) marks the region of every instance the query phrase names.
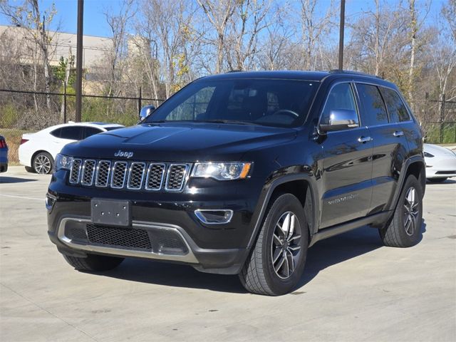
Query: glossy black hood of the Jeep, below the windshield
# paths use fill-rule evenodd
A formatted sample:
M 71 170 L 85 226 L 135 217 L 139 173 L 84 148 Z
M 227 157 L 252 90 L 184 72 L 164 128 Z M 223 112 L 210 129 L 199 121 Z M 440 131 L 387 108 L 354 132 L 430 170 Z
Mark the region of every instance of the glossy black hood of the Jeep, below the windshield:
M 239 160 L 245 152 L 293 140 L 296 130 L 214 123 L 143 124 L 92 135 L 63 147 L 74 157 L 195 162 Z M 133 153 L 133 155 L 132 155 Z

